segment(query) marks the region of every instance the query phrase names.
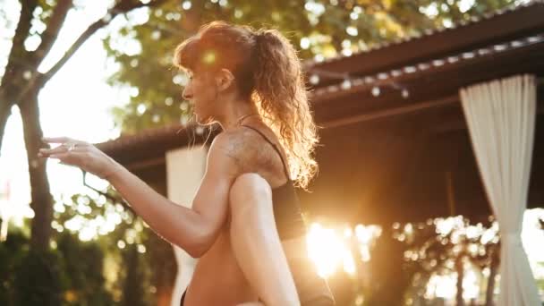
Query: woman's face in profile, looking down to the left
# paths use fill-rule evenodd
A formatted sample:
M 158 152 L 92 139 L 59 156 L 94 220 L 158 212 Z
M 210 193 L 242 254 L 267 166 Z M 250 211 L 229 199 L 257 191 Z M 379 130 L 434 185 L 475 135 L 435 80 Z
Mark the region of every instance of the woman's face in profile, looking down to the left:
M 207 124 L 217 113 L 217 90 L 211 73 L 188 72 L 189 81 L 183 89 L 183 98 L 193 106 L 197 123 Z

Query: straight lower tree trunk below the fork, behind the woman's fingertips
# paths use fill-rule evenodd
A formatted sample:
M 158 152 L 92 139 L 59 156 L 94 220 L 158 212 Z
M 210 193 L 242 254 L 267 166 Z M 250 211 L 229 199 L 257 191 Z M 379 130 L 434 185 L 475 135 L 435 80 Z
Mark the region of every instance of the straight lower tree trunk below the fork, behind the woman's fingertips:
M 31 201 L 34 210 L 31 223 L 30 246 L 35 251 L 45 251 L 49 247 L 51 221 L 53 218 L 53 198 L 47 181 L 46 160 L 38 158 L 38 149 L 45 147 L 41 138 L 43 132 L 39 124 L 38 89 L 29 92 L 19 104 L 24 132 L 27 160 L 29 164 Z

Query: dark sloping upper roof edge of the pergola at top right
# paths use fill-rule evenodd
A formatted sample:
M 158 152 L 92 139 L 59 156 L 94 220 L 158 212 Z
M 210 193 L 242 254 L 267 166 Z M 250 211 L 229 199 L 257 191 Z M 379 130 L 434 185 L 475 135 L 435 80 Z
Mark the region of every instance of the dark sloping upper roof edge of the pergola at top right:
M 429 59 L 460 54 L 511 41 L 520 37 L 540 34 L 543 30 L 544 1 L 511 5 L 473 16 L 470 21 L 461 21 L 450 28 L 426 30 L 423 35 L 398 39 L 385 43 L 367 52 L 349 56 L 340 55 L 321 63 L 309 61 L 308 72 L 336 72 L 350 76 L 365 76 L 378 72 L 426 62 Z M 364 61 L 362 61 L 364 60 Z M 334 82 L 328 80 L 328 82 Z M 327 75 L 322 84 L 327 84 Z M 337 81 L 337 80 L 336 80 Z

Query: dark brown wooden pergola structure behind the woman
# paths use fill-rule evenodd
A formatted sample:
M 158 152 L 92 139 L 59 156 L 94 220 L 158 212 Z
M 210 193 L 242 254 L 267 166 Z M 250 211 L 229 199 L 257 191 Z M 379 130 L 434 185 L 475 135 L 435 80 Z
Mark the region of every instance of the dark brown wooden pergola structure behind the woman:
M 319 174 L 311 192 L 299 193 L 303 209 L 353 224 L 459 214 L 486 220 L 491 211 L 459 89 L 520 73 L 542 80 L 542 16 L 544 3 L 531 2 L 369 52 L 305 64 L 322 129 Z M 544 207 L 543 93 L 540 86 L 529 208 Z M 166 194 L 166 151 L 205 145 L 217 132 L 169 126 L 98 148 Z

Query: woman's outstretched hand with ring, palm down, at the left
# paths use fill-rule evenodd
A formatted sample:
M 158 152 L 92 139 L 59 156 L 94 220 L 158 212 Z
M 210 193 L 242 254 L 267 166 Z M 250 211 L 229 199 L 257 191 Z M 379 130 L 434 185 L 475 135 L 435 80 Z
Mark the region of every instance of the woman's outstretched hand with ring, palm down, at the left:
M 39 149 L 38 157 L 57 158 L 64 165 L 77 166 L 102 179 L 115 174 L 118 164 L 92 144 L 68 137 L 43 138 L 47 143 L 60 143 L 54 149 Z

